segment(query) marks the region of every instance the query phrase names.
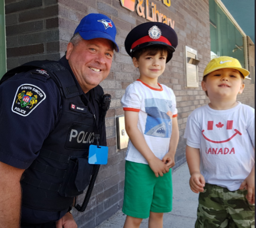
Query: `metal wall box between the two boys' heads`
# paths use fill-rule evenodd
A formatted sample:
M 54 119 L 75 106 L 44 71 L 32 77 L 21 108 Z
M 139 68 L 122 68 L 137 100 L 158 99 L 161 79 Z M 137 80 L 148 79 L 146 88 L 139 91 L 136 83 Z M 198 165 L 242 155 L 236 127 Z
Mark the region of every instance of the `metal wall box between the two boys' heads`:
M 186 87 L 199 87 L 197 51 L 185 46 L 185 81 Z

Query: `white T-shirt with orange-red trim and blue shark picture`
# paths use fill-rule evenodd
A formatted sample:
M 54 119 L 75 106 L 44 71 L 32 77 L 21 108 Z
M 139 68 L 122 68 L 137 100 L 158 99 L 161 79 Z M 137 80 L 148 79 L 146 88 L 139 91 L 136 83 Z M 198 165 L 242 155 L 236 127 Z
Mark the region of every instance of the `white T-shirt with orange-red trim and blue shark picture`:
M 158 85 L 161 88 L 153 88 L 138 79 L 127 86 L 121 104 L 124 111 L 139 112 L 138 128 L 151 151 L 162 160 L 169 149 L 172 119 L 178 114 L 173 90 Z M 125 160 L 148 164 L 130 140 Z

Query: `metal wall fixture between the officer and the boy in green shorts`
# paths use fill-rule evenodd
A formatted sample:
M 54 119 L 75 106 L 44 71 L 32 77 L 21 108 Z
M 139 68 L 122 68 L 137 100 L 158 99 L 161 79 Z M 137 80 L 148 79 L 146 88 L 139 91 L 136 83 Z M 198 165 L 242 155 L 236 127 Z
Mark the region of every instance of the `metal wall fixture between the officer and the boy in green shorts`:
M 124 115 L 116 117 L 117 149 L 121 150 L 128 146 L 129 136 L 125 131 Z

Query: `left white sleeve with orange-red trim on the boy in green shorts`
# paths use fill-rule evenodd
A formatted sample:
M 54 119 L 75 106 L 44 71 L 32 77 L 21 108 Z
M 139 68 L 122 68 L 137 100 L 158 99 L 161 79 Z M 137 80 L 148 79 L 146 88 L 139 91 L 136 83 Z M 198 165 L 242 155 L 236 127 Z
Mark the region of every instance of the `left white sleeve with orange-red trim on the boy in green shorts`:
M 135 84 L 130 84 L 121 99 L 124 111 L 139 112 L 141 109 L 142 96 Z

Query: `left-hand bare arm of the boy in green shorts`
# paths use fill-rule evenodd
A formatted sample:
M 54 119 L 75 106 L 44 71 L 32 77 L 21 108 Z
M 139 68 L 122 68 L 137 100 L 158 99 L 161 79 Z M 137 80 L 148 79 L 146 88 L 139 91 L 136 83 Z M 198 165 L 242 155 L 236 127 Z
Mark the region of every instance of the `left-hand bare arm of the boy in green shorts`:
M 138 119 L 139 112 L 124 111 L 125 130 L 135 148 L 148 161 L 148 164 L 155 173 L 155 176 L 158 177 L 158 174 L 163 176 L 163 173 L 168 172 L 169 169 L 167 165 L 158 159 L 148 147 L 143 134 L 138 128 Z

